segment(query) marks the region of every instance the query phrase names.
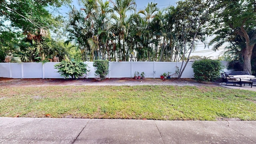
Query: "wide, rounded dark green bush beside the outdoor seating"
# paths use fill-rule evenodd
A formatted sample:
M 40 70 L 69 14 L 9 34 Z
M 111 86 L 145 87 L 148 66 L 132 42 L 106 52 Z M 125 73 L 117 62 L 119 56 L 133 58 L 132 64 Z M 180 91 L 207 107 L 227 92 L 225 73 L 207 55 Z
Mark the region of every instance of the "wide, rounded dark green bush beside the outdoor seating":
M 194 77 L 197 81 L 214 81 L 219 78 L 224 68 L 219 60 L 198 60 L 192 64 Z

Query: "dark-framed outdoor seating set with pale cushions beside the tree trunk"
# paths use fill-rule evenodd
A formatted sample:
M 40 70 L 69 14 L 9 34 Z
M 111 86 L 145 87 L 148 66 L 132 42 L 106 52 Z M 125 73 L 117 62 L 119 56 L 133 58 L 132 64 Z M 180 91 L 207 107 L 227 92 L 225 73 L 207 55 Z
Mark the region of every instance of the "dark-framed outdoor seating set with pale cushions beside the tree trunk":
M 229 75 L 229 74 L 234 74 L 234 75 Z M 234 86 L 236 84 L 239 84 L 241 87 L 242 84 L 250 84 L 252 88 L 252 80 L 256 80 L 255 76 L 248 75 L 245 72 L 225 72 L 221 73 L 222 77 L 222 83 L 225 82 L 227 84 L 233 84 Z M 221 84 L 222 84 L 221 83 Z

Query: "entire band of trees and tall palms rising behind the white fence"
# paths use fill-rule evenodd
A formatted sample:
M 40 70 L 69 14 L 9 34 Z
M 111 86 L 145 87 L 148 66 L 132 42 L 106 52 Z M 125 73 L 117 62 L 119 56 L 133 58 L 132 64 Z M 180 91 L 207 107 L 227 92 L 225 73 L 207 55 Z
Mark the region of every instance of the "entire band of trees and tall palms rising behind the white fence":
M 180 77 L 196 44 L 212 35 L 214 50 L 228 43 L 226 50 L 244 71 L 254 67 L 255 0 L 182 0 L 162 9 L 150 2 L 138 12 L 135 0 L 78 0 L 79 8 L 69 5 L 66 20 L 48 10 L 70 1 L 0 0 L 0 58 L 44 61 L 70 54 L 82 61 L 182 61 Z M 52 38 L 54 29 L 67 38 Z

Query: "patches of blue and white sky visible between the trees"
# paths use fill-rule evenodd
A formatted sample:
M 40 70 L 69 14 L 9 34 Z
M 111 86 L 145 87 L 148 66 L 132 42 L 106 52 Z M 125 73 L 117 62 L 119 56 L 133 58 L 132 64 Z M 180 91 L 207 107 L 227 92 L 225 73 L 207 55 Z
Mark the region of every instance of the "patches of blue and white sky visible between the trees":
M 80 6 L 78 5 L 78 0 L 73 0 L 72 2 L 72 6 L 75 6 L 78 10 L 80 9 Z M 136 1 L 136 5 L 137 5 L 137 12 L 139 10 L 143 10 L 144 8 L 146 8 L 147 4 L 150 2 L 153 3 L 157 3 L 157 7 L 162 9 L 165 8 L 167 6 L 176 6 L 176 2 L 178 2 L 178 0 L 135 0 Z M 62 7 L 60 10 L 60 13 L 63 16 L 67 16 L 67 12 L 69 11 L 70 8 L 68 7 Z M 221 56 L 223 54 L 223 50 L 218 50 L 216 52 L 214 52 L 210 46 L 210 48 L 208 48 L 208 43 L 210 42 L 211 38 L 206 38 L 206 48 L 204 47 L 203 43 L 198 43 L 196 44 L 196 50 L 190 54 L 190 56 L 206 56 L 206 57 L 211 57 L 212 59 L 216 59 L 218 58 L 218 56 Z

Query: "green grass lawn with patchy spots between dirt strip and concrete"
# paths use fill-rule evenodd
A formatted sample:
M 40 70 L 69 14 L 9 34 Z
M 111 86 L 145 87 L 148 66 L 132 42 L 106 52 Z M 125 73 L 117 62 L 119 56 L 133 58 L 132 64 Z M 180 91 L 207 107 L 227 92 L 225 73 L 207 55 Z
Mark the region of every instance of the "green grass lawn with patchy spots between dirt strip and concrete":
M 0 90 L 0 116 L 256 120 L 256 92 L 195 86 L 44 86 Z

